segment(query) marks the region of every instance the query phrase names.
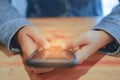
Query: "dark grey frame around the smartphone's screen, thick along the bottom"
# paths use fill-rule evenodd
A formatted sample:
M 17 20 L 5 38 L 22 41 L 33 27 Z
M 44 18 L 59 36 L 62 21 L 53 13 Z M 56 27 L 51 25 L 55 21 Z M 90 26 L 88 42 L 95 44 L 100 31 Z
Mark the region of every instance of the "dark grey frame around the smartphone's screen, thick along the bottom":
M 65 59 L 33 59 L 35 55 L 37 55 L 39 52 L 38 49 L 36 49 L 32 55 L 30 55 L 26 60 L 25 64 L 30 67 L 36 67 L 36 68 L 66 68 L 66 67 L 74 67 L 77 65 L 78 60 L 75 55 L 75 51 L 72 50 L 72 59 L 65 60 Z

